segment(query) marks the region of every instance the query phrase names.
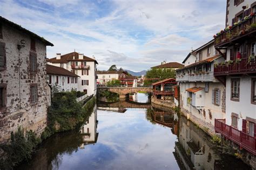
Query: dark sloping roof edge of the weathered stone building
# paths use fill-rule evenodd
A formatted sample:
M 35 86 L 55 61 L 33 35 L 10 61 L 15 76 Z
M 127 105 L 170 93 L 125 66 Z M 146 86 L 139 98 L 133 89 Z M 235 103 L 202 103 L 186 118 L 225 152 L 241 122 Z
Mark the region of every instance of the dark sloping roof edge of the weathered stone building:
M 35 33 L 31 32 L 31 31 L 29 31 L 27 29 L 24 29 L 21 25 L 15 24 L 15 23 L 13 23 L 13 22 L 9 21 L 8 19 L 5 19 L 5 18 L 3 18 L 1 16 L 0 16 L 0 23 L 4 23 L 6 25 L 10 25 L 11 28 L 15 28 L 15 29 L 17 29 L 19 31 L 27 33 L 31 37 L 36 38 L 38 40 L 41 40 L 43 43 L 45 43 L 45 45 L 53 46 L 52 43 L 50 43 L 48 40 L 44 39 L 43 37 L 40 37 L 40 36 L 36 35 Z

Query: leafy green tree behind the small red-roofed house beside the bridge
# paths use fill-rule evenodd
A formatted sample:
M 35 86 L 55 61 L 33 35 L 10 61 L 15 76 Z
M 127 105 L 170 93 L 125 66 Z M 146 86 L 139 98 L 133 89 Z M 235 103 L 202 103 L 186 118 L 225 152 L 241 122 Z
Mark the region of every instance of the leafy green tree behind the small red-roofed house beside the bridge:
M 167 78 L 175 78 L 175 70 L 173 69 L 150 69 L 145 75 L 144 85 L 151 85 L 160 80 Z

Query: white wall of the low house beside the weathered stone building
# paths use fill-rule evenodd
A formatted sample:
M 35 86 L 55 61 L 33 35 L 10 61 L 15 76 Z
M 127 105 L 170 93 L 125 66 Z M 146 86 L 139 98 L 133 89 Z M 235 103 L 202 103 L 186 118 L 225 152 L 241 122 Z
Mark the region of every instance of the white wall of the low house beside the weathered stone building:
M 77 77 L 74 77 L 74 81 L 73 81 L 73 83 L 71 83 L 72 77 L 47 74 L 47 82 L 48 83 L 50 81 L 49 76 L 51 76 L 51 84 L 50 85 L 55 85 L 55 83 L 57 83 L 57 76 L 58 76 L 59 81 L 58 81 L 57 85 L 58 85 L 59 91 L 63 91 L 63 90 L 64 91 L 71 91 L 71 90 L 77 91 L 78 90 L 78 84 L 75 83 L 76 82 L 75 78 L 77 78 Z M 69 77 L 69 83 L 68 83 L 68 77 Z M 64 85 L 62 84 L 63 78 L 64 78 Z

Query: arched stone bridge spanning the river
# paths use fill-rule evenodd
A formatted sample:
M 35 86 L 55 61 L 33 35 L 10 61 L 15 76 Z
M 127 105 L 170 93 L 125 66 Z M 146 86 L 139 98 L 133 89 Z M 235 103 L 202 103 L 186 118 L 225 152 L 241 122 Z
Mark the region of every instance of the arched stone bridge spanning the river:
M 98 87 L 98 91 L 110 91 L 119 94 L 119 99 L 124 100 L 126 94 L 138 93 L 139 91 L 152 93 L 151 87 Z

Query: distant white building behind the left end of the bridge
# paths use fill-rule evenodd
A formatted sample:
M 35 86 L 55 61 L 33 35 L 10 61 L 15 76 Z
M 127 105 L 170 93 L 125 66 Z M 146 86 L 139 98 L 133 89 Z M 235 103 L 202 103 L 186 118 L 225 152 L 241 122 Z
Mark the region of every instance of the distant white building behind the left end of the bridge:
M 112 79 L 120 80 L 121 85 L 125 85 L 127 72 L 126 71 L 97 71 L 97 83 L 106 85 L 107 81 Z

